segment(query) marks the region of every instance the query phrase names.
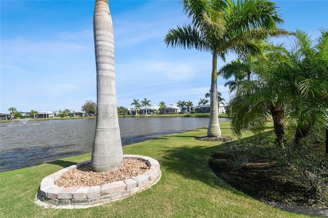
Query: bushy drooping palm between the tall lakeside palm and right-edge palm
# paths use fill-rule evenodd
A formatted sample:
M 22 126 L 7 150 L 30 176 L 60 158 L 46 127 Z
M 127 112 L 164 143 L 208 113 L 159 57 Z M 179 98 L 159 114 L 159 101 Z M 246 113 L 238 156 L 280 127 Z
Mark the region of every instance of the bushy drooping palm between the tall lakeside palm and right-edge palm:
M 285 111 L 283 92 L 288 81 L 282 79 L 282 56 L 285 49 L 268 44 L 267 51 L 256 56 L 257 61 L 250 64 L 255 80 L 243 80 L 230 101 L 228 115 L 232 116 L 231 126 L 234 134 L 241 136 L 245 130 L 260 133 L 267 125 L 268 112 L 274 123 L 277 141 L 284 147 Z M 233 71 L 230 71 L 233 72 Z M 246 75 L 244 72 L 237 72 Z

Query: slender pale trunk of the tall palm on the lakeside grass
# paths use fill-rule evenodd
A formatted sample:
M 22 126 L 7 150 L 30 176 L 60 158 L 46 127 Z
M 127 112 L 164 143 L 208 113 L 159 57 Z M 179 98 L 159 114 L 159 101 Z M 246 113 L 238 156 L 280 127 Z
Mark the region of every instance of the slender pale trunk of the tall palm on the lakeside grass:
M 207 130 L 208 137 L 220 137 L 221 129 L 219 124 L 219 112 L 217 102 L 217 54 L 213 51 L 212 60 L 212 81 L 211 81 L 211 102 L 210 102 L 210 123 Z

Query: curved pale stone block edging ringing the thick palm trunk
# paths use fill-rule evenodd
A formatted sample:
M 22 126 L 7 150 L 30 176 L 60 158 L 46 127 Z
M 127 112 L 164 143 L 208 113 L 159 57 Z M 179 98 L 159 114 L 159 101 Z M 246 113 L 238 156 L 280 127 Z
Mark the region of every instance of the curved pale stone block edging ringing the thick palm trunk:
M 95 205 L 129 197 L 149 188 L 160 179 L 161 171 L 157 160 L 141 155 L 124 155 L 124 159 L 144 161 L 149 166 L 149 170 L 132 179 L 103 185 L 65 188 L 54 184 L 54 181 L 64 173 L 90 162 L 85 161 L 45 177 L 38 189 L 37 199 L 54 206 Z

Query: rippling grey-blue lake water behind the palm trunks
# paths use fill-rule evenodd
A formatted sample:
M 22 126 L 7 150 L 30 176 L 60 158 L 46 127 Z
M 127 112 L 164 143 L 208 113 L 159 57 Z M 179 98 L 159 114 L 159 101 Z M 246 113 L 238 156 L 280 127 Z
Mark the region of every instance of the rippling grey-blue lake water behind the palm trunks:
M 220 118 L 222 121 L 227 119 Z M 118 122 L 124 146 L 208 126 L 209 118 L 130 117 Z M 91 152 L 95 125 L 94 118 L 0 123 L 0 171 Z

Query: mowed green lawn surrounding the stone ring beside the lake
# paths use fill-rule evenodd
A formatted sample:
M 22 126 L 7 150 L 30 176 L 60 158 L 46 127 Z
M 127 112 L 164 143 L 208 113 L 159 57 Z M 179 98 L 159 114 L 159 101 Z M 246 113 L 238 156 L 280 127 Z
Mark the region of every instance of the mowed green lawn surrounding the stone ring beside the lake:
M 222 136 L 231 136 L 229 122 L 220 123 L 220 126 Z M 272 132 L 272 127 L 268 130 Z M 158 160 L 161 179 L 132 197 L 97 207 L 50 209 L 34 204 L 35 194 L 44 177 L 63 167 L 90 160 L 91 154 L 2 172 L 0 216 L 306 217 L 260 203 L 217 178 L 208 160 L 221 149 L 222 142 L 195 140 L 195 137 L 206 136 L 206 132 L 206 128 L 195 129 L 124 146 L 124 154 L 145 155 Z

